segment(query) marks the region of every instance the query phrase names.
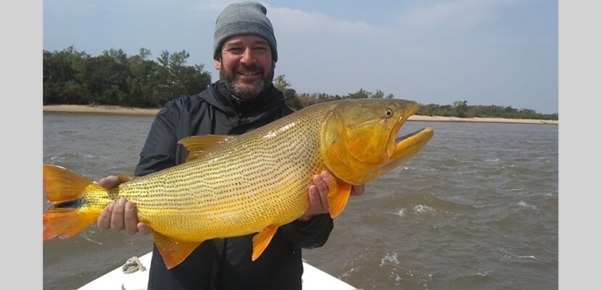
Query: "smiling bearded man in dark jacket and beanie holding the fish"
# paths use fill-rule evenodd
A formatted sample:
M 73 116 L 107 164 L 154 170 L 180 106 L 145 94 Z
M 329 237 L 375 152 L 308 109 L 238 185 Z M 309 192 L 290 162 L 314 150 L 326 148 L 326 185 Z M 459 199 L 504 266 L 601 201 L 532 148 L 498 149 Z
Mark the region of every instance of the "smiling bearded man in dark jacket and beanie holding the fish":
M 184 162 L 188 151 L 177 145 L 181 138 L 238 135 L 291 112 L 272 85 L 278 51 L 266 12 L 262 4 L 245 2 L 231 4 L 218 16 L 213 59 L 220 80 L 198 95 L 165 104 L 146 137 L 135 175 Z M 148 288 L 301 288 L 301 248 L 322 246 L 333 228 L 327 200 L 330 180 L 329 172 L 314 176 L 314 185 L 308 188 L 310 209 L 280 227 L 256 261 L 251 261 L 254 235 L 205 241 L 173 269 L 165 268 L 155 245 Z M 114 176 L 100 180 L 107 188 L 119 183 Z M 352 195 L 363 193 L 364 186 L 354 186 Z M 152 232 L 138 223 L 134 204 L 124 199 L 107 206 L 97 225 L 129 234 Z

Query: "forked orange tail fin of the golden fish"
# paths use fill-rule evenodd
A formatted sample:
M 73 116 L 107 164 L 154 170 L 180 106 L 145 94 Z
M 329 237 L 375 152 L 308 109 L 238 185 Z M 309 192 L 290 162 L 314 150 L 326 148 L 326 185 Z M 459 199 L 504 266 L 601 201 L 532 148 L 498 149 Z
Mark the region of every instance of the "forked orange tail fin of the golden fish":
M 63 167 L 44 164 L 44 192 L 48 200 L 59 208 L 50 208 L 44 213 L 44 241 L 54 237 L 68 238 L 78 234 L 94 223 L 98 214 L 79 211 L 77 200 L 81 198 L 88 186 L 94 181 L 84 178 Z M 76 202 L 75 207 L 63 207 L 60 203 Z

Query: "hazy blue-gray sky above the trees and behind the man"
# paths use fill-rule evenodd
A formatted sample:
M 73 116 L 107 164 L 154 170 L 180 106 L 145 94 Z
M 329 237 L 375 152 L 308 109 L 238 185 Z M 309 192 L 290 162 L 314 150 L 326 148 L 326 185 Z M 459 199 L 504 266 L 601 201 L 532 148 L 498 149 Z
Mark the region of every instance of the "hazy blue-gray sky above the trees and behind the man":
M 45 0 L 43 48 L 186 50 L 213 68 L 217 15 L 238 1 Z M 297 93 L 360 88 L 420 104 L 558 112 L 554 0 L 259 1 L 278 42 L 276 75 Z

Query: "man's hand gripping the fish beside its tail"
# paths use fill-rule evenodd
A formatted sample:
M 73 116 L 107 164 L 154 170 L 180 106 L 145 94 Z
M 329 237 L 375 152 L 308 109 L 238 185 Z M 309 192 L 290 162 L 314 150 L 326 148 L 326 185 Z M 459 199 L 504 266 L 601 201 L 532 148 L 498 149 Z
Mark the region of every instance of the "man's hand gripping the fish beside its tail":
M 121 182 L 123 180 L 112 175 L 100 179 L 98 185 L 109 189 L 119 186 Z M 96 224 L 101 230 L 111 229 L 113 231 L 121 231 L 125 229 L 125 232 L 130 235 L 136 233 L 148 235 L 153 232 L 153 229 L 146 226 L 145 223 L 138 222 L 136 205 L 128 202 L 125 198 L 119 199 L 116 203 L 109 203 L 105 207 L 105 210 L 100 213 Z

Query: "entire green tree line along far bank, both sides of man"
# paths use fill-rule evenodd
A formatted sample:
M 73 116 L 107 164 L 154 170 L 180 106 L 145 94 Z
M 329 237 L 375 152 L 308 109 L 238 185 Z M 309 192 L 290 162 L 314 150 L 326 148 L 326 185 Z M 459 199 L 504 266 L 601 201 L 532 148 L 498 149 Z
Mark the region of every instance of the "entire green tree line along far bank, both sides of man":
M 141 108 L 160 108 L 166 102 L 184 95 L 195 95 L 212 83 L 211 74 L 203 64 L 188 65 L 185 50 L 163 51 L 155 59 L 150 50 L 140 48 L 128 55 L 121 49 L 105 50 L 92 56 L 69 46 L 61 51 L 43 50 L 43 104 L 109 104 Z M 347 95 L 326 93 L 298 94 L 279 75 L 274 87 L 282 91 L 293 110 L 320 102 L 358 98 L 394 98 L 393 94 L 366 91 L 360 88 Z M 454 104 L 421 104 L 418 115 L 460 118 L 510 118 L 558 120 L 558 114 L 541 114 L 512 106 Z

